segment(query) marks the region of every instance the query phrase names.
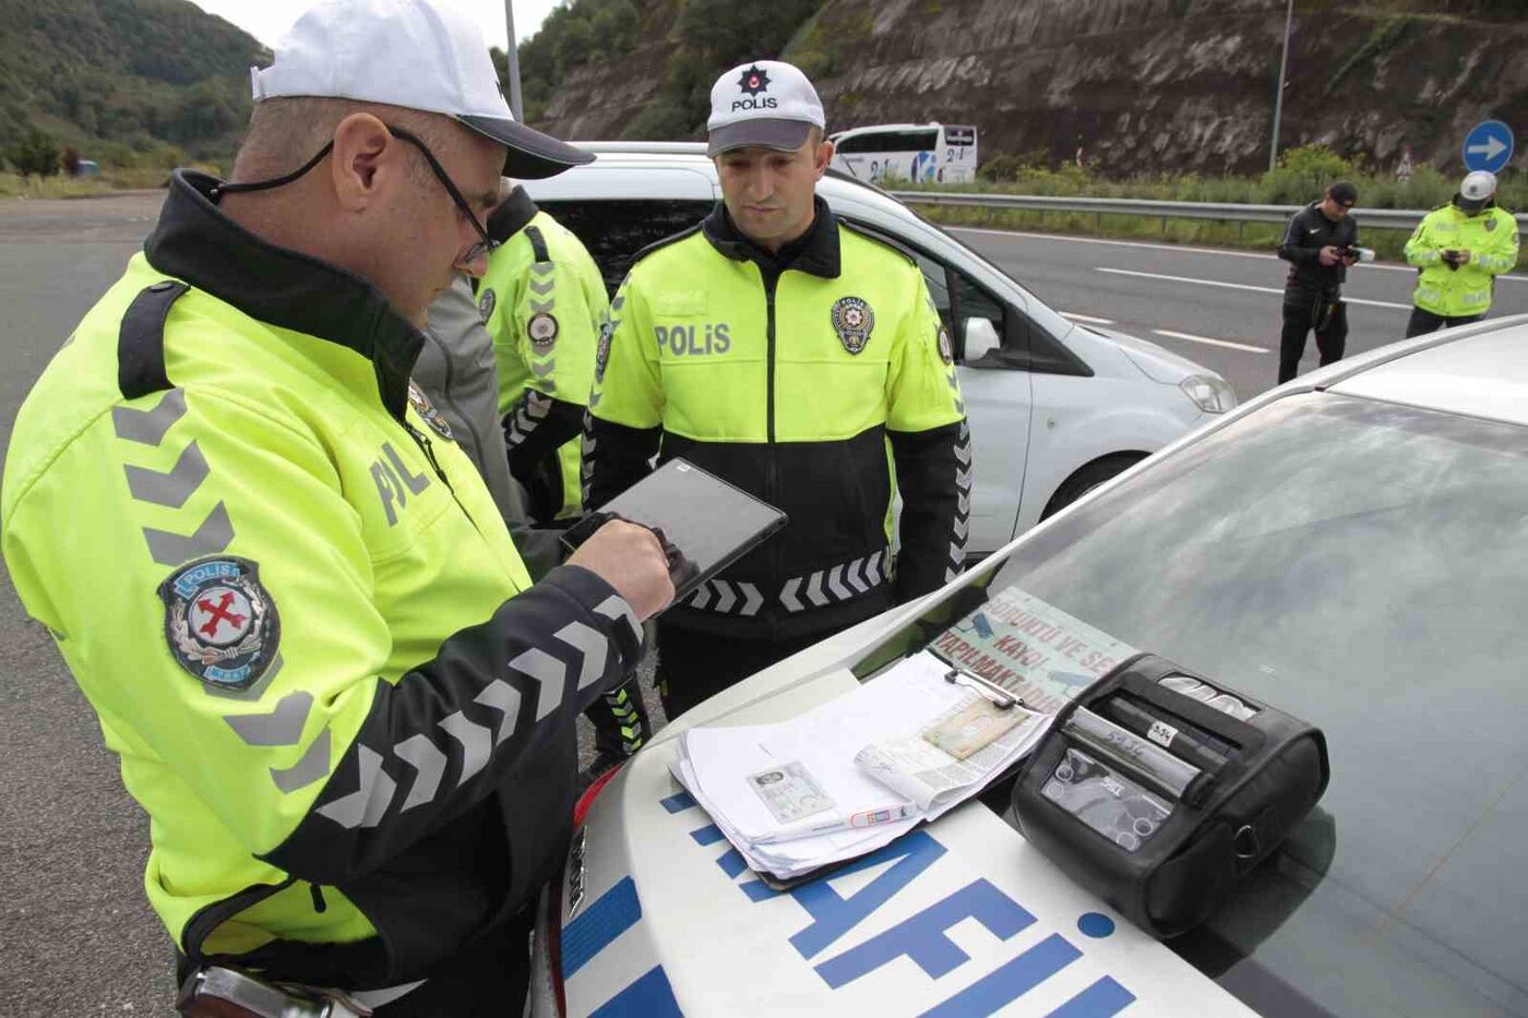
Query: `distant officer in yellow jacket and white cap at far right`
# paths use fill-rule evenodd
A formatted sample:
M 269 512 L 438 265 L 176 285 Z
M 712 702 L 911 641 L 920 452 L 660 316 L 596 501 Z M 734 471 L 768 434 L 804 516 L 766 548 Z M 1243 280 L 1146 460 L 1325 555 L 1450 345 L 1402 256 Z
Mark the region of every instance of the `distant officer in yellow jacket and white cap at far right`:
M 1416 266 L 1407 339 L 1485 318 L 1496 277 L 1517 264 L 1517 220 L 1496 203 L 1496 176 L 1467 174 L 1453 200 L 1416 225 L 1406 261 Z

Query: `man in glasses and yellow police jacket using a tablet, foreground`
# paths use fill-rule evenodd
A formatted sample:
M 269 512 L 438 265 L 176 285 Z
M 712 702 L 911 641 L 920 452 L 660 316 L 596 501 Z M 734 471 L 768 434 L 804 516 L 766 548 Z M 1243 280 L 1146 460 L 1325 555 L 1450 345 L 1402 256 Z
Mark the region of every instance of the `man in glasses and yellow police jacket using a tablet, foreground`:
M 21 407 L 0 547 L 150 816 L 188 989 L 520 1013 L 576 714 L 672 584 L 613 523 L 532 585 L 410 371 L 486 267 L 506 150 L 518 177 L 587 154 L 516 124 L 431 0 L 324 0 L 252 78 L 234 182 L 173 174 Z

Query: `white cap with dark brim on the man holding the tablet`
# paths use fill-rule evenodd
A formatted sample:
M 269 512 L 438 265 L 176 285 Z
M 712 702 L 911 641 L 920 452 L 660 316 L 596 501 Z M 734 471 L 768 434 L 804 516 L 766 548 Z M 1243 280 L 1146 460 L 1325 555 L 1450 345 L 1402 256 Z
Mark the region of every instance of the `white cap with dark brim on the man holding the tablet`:
M 255 102 L 325 96 L 442 113 L 509 147 L 512 177 L 550 177 L 594 156 L 515 122 L 477 23 L 446 0 L 319 0 L 251 67 Z

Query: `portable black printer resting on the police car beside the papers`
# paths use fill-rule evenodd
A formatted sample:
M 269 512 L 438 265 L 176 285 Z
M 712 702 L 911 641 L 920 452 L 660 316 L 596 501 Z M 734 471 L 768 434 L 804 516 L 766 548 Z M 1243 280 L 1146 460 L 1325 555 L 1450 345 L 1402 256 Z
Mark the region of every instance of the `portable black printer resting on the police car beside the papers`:
M 1056 715 L 1013 809 L 1077 883 L 1174 937 L 1284 841 L 1329 772 L 1319 729 L 1138 654 Z

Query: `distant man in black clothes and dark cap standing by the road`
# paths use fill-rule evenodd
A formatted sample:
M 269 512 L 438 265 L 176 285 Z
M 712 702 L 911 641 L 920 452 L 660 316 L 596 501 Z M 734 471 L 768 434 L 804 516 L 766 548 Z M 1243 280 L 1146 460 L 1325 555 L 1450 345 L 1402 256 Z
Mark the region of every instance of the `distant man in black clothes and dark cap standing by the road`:
M 1290 263 L 1284 283 L 1284 333 L 1279 338 L 1279 382 L 1300 371 L 1305 336 L 1316 330 L 1322 365 L 1342 361 L 1348 344 L 1348 306 L 1342 284 L 1358 260 L 1358 223 L 1348 214 L 1358 188 L 1339 180 L 1290 219 L 1279 243 L 1279 257 Z

